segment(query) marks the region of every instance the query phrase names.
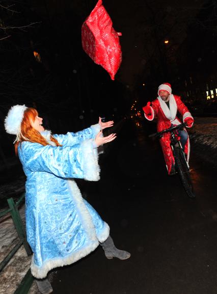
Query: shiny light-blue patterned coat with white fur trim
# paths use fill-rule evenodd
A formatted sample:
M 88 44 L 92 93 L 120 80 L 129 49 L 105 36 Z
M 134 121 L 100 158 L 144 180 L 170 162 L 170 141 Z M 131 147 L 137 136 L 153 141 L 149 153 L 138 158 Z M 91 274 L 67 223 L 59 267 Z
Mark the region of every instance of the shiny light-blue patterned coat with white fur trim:
M 62 147 L 28 141 L 18 146 L 27 177 L 26 235 L 34 253 L 31 271 L 36 278 L 86 256 L 109 235 L 108 225 L 82 198 L 73 180 L 99 180 L 93 146 L 99 130 L 96 124 L 76 133 L 52 135 Z

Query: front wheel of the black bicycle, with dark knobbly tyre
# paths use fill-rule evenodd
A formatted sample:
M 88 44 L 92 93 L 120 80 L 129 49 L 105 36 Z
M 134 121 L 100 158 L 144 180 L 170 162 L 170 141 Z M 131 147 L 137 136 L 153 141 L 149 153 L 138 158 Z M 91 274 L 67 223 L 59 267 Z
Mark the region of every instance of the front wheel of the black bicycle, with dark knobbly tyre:
M 189 198 L 195 198 L 195 192 L 192 184 L 191 174 L 187 167 L 184 154 L 179 147 L 174 148 L 175 164 L 184 190 Z

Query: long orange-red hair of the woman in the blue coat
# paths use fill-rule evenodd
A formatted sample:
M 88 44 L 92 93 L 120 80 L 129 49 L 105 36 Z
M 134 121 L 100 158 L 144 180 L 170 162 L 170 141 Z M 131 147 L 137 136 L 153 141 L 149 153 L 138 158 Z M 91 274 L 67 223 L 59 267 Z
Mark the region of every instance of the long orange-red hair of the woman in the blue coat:
M 32 142 L 32 143 L 39 143 L 39 144 L 41 144 L 43 146 L 49 145 L 47 143 L 47 141 L 44 139 L 44 137 L 41 136 L 40 132 L 32 127 L 32 122 L 35 121 L 37 116 L 38 116 L 38 112 L 34 108 L 28 108 L 28 109 L 26 109 L 24 111 L 23 119 L 22 119 L 22 122 L 21 122 L 22 135 L 26 139 L 29 139 L 30 142 Z M 23 139 L 22 136 L 20 136 L 20 140 L 21 141 L 16 142 L 15 145 L 14 145 L 16 154 L 17 154 L 17 148 L 18 148 L 19 143 L 21 143 L 22 141 L 26 141 L 25 139 Z M 50 136 L 50 141 L 55 142 L 55 144 L 57 146 L 62 146 L 52 136 Z

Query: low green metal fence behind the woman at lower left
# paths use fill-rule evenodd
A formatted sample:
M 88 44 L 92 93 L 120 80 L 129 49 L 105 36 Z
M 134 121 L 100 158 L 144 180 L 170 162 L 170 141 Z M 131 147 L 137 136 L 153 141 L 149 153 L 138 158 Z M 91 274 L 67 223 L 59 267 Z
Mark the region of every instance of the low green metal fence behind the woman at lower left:
M 0 273 L 1 271 L 5 268 L 6 264 L 10 261 L 10 259 L 14 256 L 14 254 L 17 252 L 17 250 L 20 248 L 21 245 L 24 246 L 25 251 L 28 256 L 32 254 L 32 250 L 29 246 L 29 244 L 26 241 L 26 236 L 25 236 L 25 230 L 22 224 L 22 220 L 19 214 L 18 207 L 20 203 L 24 200 L 25 198 L 25 193 L 21 195 L 19 200 L 14 203 L 13 198 L 7 199 L 9 209 L 6 209 L 2 212 L 0 212 L 0 218 L 6 216 L 8 213 L 10 213 L 14 226 L 16 228 L 17 234 L 19 236 L 19 242 L 17 245 L 15 245 L 12 250 L 9 252 L 9 254 L 4 258 L 4 260 L 0 263 Z M 25 274 L 24 278 L 22 279 L 19 287 L 16 289 L 14 294 L 27 294 L 29 292 L 29 289 L 33 283 L 33 276 L 31 274 L 31 271 L 29 271 Z

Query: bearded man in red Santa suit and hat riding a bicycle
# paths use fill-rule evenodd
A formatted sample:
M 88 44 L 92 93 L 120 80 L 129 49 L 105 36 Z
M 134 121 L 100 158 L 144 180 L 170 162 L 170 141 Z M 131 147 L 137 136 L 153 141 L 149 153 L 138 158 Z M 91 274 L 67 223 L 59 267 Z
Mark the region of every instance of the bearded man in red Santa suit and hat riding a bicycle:
M 194 119 L 191 113 L 181 101 L 181 98 L 172 94 L 171 85 L 169 83 L 161 84 L 158 87 L 157 94 L 158 97 L 154 101 L 148 102 L 147 105 L 143 107 L 144 115 L 147 120 L 153 120 L 154 118 L 157 119 L 157 131 L 162 131 L 180 124 L 181 122 L 177 117 L 177 111 L 182 115 L 186 127 L 192 127 Z M 190 143 L 186 129 L 179 131 L 179 137 L 188 161 Z M 173 175 L 175 174 L 175 161 L 170 145 L 170 138 L 171 134 L 169 132 L 165 133 L 164 136 L 160 138 L 160 145 L 164 153 L 168 173 L 169 175 Z

